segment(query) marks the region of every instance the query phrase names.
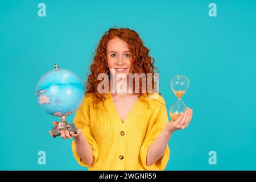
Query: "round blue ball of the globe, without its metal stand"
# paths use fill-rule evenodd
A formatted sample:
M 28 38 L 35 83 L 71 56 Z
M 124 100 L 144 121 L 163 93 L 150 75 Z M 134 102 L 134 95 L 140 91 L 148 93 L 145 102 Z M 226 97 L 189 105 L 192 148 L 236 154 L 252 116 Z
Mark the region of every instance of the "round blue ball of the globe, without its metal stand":
M 84 85 L 75 73 L 53 69 L 44 74 L 36 86 L 36 97 L 44 111 L 56 117 L 75 112 L 84 98 Z

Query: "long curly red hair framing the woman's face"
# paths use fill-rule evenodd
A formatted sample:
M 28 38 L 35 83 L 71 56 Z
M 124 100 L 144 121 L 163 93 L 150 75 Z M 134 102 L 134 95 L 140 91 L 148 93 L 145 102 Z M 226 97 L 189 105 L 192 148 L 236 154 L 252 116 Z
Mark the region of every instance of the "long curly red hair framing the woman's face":
M 105 32 L 100 40 L 100 43 L 98 44 L 95 55 L 93 57 L 93 63 L 92 65 L 90 65 L 91 73 L 88 76 L 88 80 L 85 82 L 85 94 L 93 93 L 96 98 L 95 104 L 98 104 L 102 101 L 104 102 L 106 99 L 106 94 L 98 93 L 97 88 L 101 80 L 97 80 L 97 78 L 100 73 L 106 73 L 110 77 L 110 71 L 108 68 L 108 61 L 106 56 L 107 46 L 109 40 L 112 40 L 116 37 L 124 40 L 128 44 L 128 48 L 131 52 L 131 57 L 133 60 L 130 73 L 145 73 L 146 76 L 148 76 L 147 73 L 151 73 L 152 83 L 150 84 L 152 84 L 152 88 L 154 89 L 154 69 L 157 69 L 154 67 L 155 59 L 149 56 L 150 50 L 144 46 L 141 38 L 139 38 L 139 34 L 134 30 L 130 30 L 129 28 L 110 28 L 108 31 Z M 140 97 L 144 96 L 144 93 L 141 92 L 141 81 L 139 82 L 139 99 L 145 101 L 143 97 Z M 147 82 L 147 85 L 148 84 L 149 83 Z M 148 93 L 147 90 L 146 95 L 148 96 L 149 94 L 150 93 Z

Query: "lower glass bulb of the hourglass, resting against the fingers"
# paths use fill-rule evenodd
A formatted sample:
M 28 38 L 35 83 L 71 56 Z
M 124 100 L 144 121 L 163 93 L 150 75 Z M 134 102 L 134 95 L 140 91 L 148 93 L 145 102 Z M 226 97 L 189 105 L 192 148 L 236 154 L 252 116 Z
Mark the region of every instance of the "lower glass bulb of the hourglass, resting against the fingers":
M 187 108 L 187 106 L 185 105 L 185 103 L 181 99 L 178 99 L 171 106 L 171 109 L 170 109 L 169 114 L 170 114 L 172 121 L 175 121 L 177 118 L 179 118 L 180 115 L 185 112 L 186 108 Z

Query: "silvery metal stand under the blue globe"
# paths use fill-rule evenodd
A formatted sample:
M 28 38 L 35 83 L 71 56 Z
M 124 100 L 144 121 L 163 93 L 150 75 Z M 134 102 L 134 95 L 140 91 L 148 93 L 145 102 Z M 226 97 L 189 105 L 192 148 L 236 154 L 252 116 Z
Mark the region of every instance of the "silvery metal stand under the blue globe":
M 69 132 L 72 131 L 73 133 L 77 134 L 75 123 L 72 123 L 70 125 L 67 122 L 66 117 L 63 116 L 63 117 L 61 117 L 61 121 L 59 122 L 59 125 L 52 127 L 53 138 L 60 136 L 60 131 L 65 131 L 65 130 L 67 130 Z

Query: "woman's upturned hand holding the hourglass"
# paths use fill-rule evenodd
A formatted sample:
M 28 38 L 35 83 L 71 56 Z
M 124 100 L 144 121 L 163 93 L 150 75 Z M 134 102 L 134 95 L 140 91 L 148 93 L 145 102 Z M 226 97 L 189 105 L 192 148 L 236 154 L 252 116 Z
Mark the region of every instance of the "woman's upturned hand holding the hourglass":
M 164 127 L 164 130 L 166 130 L 168 133 L 172 133 L 175 130 L 180 130 L 188 127 L 189 122 L 192 118 L 192 114 L 193 110 L 187 107 L 187 110 L 183 114 L 181 114 L 179 118 L 177 118 L 175 121 L 168 122 Z

